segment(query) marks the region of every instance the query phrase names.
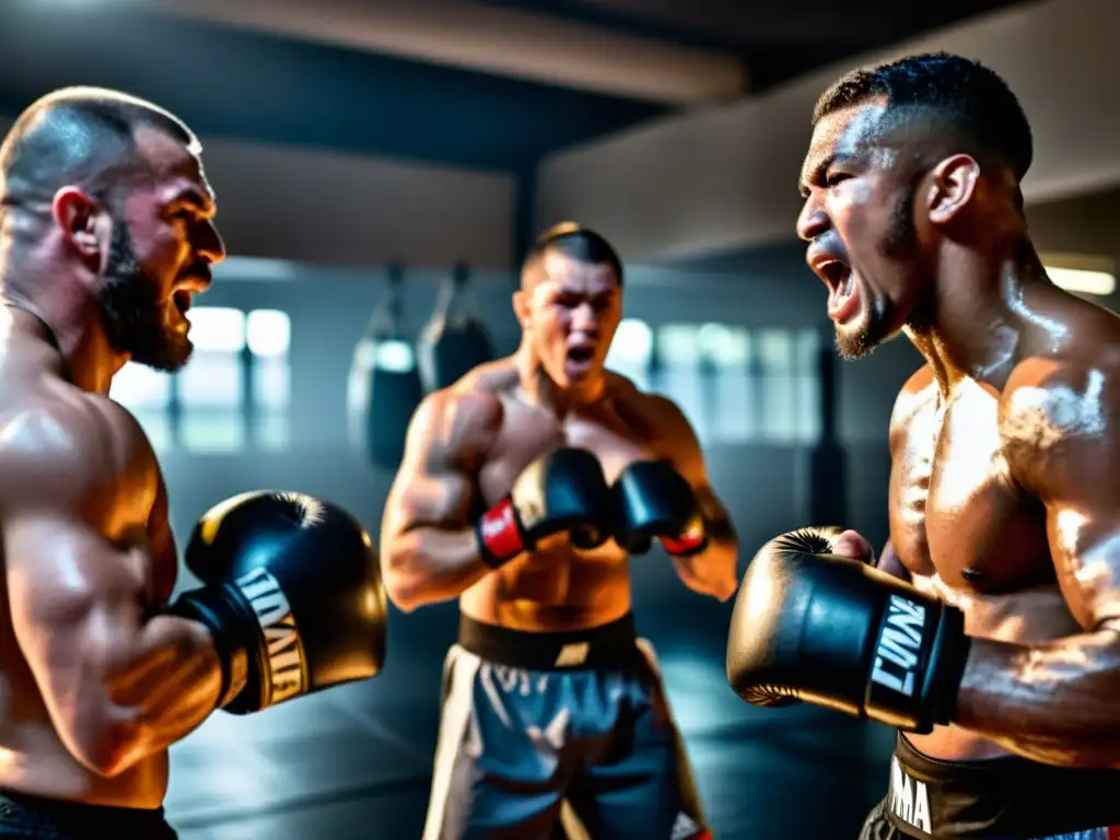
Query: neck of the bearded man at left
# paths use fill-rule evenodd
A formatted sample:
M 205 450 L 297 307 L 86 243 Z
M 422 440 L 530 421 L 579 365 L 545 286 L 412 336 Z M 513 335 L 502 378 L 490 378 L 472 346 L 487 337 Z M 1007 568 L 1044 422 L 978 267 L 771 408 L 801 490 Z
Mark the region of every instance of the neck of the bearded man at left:
M 11 259 L 0 276 L 0 298 L 38 323 L 45 340 L 62 355 L 66 377 L 76 386 L 108 394 L 128 356 L 109 343 L 97 304 L 73 269 Z

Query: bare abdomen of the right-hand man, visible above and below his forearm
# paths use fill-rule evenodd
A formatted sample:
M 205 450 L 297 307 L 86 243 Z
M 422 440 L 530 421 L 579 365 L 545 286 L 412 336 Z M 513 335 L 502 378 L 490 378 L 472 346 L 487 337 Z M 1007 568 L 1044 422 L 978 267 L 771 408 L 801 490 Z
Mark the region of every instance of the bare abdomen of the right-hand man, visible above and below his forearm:
M 914 576 L 914 585 L 964 612 L 964 631 L 977 638 L 1021 645 L 1053 642 L 1082 628 L 1070 615 L 1056 585 L 1030 587 L 1008 595 L 977 595 L 946 586 L 939 576 Z M 928 735 L 906 734 L 916 749 L 946 762 L 1002 758 L 1012 755 L 982 735 L 958 726 L 939 726 Z

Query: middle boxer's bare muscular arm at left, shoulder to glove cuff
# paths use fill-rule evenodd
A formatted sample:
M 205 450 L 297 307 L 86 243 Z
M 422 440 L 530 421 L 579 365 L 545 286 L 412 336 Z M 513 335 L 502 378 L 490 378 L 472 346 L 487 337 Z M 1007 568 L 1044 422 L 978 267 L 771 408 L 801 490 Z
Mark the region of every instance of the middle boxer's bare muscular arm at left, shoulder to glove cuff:
M 381 528 L 382 578 L 400 609 L 457 598 L 491 570 L 470 503 L 501 422 L 502 403 L 486 391 L 436 392 L 413 416 Z

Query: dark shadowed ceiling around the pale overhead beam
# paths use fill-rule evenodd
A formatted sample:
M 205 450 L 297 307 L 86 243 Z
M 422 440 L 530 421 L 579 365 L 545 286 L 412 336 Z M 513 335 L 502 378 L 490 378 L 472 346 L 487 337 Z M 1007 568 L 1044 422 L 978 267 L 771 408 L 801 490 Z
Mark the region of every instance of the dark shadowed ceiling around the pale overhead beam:
M 454 1 L 458 7 L 482 8 Z M 1010 4 L 1011 0 L 755 0 L 749 4 L 488 0 L 485 11 L 498 22 L 506 18 L 494 16 L 510 16 L 522 27 L 519 31 L 528 31 L 525 22 L 536 19 L 578 27 L 563 30 L 573 32 L 570 36 L 553 36 L 550 44 L 563 49 L 578 50 L 607 38 L 620 39 L 635 55 L 643 49 L 647 55 L 660 48 L 687 49 L 680 55 L 696 59 L 698 67 L 711 59 L 711 67 L 722 63 L 725 69 L 744 68 L 748 81 L 743 93 L 757 93 L 849 55 Z M 392 49 L 361 48 L 355 45 L 371 43 L 368 38 L 346 37 L 346 21 L 357 19 L 346 16 L 375 22 L 376 16 L 385 19 L 390 11 L 437 9 L 424 0 L 317 0 L 307 8 L 314 7 L 318 22 L 332 13 L 339 17 L 333 28 L 314 35 L 273 26 L 269 16 L 282 6 L 284 0 L 227 0 L 209 3 L 213 11 L 205 15 L 199 10 L 207 3 L 195 0 L 4 0 L 0 114 L 15 115 L 53 87 L 99 84 L 150 97 L 207 137 L 530 171 L 557 149 L 704 104 L 696 97 L 659 102 L 647 94 L 612 93 L 609 85 L 590 78 L 587 67 L 582 75 L 550 83 L 552 71 L 545 69 L 544 77 L 521 73 L 502 54 L 505 47 L 495 49 L 494 64 L 487 68 L 485 50 L 482 59 L 476 49 L 473 64 L 455 66 L 456 62 L 433 60 L 428 54 L 420 58 L 402 50 L 391 55 Z M 456 19 L 447 12 L 452 8 L 448 0 L 442 8 L 449 21 Z M 281 19 L 279 12 L 273 17 Z M 436 26 L 438 21 L 436 13 Z M 426 31 L 432 32 L 431 18 L 427 26 Z M 367 27 L 365 34 L 376 36 L 375 29 Z M 506 37 L 504 45 L 516 35 L 512 28 L 500 32 L 497 24 L 491 31 Z M 432 43 L 438 40 L 435 35 Z M 342 45 L 343 40 L 348 44 Z M 444 43 L 449 48 L 465 46 L 446 37 Z M 600 56 L 609 43 L 598 45 Z M 422 53 L 417 50 L 417 56 Z M 531 50 L 525 55 L 531 57 Z M 721 97 L 728 95 L 725 90 Z

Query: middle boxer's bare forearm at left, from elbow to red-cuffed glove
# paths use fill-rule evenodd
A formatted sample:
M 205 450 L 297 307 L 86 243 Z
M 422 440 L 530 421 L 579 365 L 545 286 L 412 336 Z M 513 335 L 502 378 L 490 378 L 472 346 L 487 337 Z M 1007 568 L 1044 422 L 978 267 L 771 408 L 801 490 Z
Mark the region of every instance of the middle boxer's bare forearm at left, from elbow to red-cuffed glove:
M 416 528 L 386 548 L 385 588 L 405 612 L 458 598 L 492 571 L 474 528 Z

